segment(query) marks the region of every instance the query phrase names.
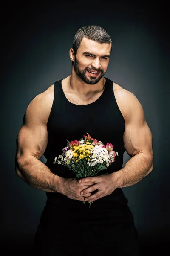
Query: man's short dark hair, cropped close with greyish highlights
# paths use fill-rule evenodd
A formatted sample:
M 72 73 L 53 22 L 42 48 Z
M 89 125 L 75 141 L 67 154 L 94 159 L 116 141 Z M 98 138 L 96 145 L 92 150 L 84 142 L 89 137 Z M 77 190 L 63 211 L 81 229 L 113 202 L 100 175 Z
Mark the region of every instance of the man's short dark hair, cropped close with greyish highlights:
M 77 31 L 77 33 L 74 35 L 74 41 L 73 41 L 73 50 L 74 54 L 77 54 L 77 50 L 81 44 L 81 41 L 83 38 L 88 38 L 91 40 L 94 40 L 100 44 L 111 44 L 111 51 L 112 51 L 112 41 L 111 37 L 104 29 L 102 29 L 100 26 L 96 25 L 89 25 L 85 26 Z

